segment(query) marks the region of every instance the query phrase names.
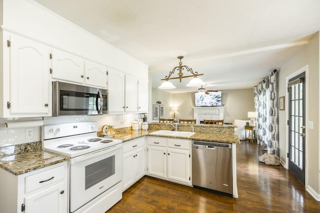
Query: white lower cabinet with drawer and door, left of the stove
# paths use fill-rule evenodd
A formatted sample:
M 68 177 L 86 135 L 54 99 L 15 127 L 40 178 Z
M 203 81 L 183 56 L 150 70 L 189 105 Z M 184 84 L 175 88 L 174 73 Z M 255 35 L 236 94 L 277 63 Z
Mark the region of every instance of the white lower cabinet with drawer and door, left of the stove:
M 18 176 L 0 169 L 0 182 L 0 212 L 67 212 L 67 162 Z

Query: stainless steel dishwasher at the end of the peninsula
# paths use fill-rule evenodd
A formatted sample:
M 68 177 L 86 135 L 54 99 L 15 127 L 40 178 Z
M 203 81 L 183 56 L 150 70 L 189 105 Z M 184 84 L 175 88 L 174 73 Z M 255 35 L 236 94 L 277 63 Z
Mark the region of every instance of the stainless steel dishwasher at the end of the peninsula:
M 231 144 L 192 141 L 192 185 L 232 197 Z

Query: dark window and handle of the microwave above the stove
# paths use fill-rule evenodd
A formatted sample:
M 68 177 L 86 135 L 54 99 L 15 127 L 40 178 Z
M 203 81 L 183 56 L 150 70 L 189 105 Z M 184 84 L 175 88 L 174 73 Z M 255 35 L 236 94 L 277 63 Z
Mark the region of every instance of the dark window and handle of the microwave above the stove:
M 97 111 L 97 94 L 60 90 L 60 111 Z

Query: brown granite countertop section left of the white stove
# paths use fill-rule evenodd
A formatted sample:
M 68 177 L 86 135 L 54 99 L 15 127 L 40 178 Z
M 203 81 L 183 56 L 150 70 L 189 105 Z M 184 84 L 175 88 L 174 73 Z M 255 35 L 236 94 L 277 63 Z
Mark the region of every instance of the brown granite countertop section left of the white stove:
M 62 155 L 43 151 L 39 145 L 41 145 L 41 142 L 0 148 L 0 156 L 3 156 L 0 158 L 0 168 L 13 175 L 21 175 L 69 159 Z M 34 149 L 30 149 L 30 147 Z M 12 151 L 11 154 L 5 154 L 8 153 L 8 150 Z

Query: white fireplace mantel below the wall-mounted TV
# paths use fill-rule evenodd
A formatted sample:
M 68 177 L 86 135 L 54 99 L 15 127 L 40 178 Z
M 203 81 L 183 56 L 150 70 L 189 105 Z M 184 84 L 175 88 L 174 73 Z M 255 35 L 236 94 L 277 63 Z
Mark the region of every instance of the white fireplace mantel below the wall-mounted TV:
M 196 124 L 206 120 L 224 120 L 223 110 L 225 107 L 192 107 L 193 119 L 196 119 Z

